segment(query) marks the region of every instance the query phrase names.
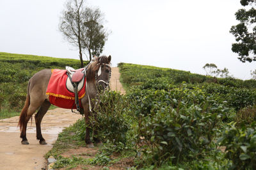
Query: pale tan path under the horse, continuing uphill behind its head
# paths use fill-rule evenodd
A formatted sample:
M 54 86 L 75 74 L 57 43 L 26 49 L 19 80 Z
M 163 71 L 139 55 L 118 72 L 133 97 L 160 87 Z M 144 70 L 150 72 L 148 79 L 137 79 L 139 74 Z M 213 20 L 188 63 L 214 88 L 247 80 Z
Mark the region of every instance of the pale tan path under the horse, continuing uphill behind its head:
M 124 94 L 124 89 L 119 81 L 118 67 L 112 68 L 111 90 L 118 90 Z M 42 120 L 42 134 L 47 145 L 39 145 L 36 140 L 35 119 L 29 122 L 27 138 L 30 145 L 21 145 L 20 131 L 17 127 L 19 117 L 0 120 L 0 169 L 44 169 L 44 155 L 52 148 L 58 138 L 58 133 L 63 128 L 74 124 L 81 115 L 76 115 L 70 110 L 57 108 L 49 110 Z

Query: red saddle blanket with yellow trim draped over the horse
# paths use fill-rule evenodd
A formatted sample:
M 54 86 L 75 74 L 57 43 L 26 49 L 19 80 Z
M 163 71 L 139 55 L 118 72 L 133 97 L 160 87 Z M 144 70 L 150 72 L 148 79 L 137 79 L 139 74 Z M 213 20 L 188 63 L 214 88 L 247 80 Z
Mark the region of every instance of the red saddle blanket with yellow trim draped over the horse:
M 75 94 L 67 89 L 66 81 L 68 75 L 65 69 L 52 69 L 52 75 L 47 86 L 46 94 L 49 96 L 51 104 L 65 109 L 76 109 Z M 81 98 L 85 95 L 84 78 L 83 88 L 78 92 L 79 105 L 81 106 Z

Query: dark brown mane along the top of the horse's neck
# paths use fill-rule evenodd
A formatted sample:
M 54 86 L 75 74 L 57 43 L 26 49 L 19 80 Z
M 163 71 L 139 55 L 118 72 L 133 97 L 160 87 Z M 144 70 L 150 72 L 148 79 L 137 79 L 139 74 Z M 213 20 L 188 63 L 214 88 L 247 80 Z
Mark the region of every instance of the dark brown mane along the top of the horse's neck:
M 86 81 L 95 80 L 95 71 L 99 70 L 99 67 L 102 64 L 109 64 L 109 60 L 107 56 L 94 57 L 88 66 L 88 70 L 86 73 Z

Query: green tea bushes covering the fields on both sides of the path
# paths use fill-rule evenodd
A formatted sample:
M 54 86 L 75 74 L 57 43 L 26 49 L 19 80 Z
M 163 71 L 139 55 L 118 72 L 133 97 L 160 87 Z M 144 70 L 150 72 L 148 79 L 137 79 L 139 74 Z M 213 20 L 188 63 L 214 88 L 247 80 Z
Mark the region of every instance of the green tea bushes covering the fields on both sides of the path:
M 79 60 L 0 53 L 1 117 L 20 111 L 34 73 L 79 65 Z M 108 169 L 122 158 L 132 159 L 129 169 L 256 169 L 255 80 L 136 64 L 118 67 L 126 94 L 106 92 L 97 121 L 91 118 L 104 143 L 100 152 L 93 159 L 60 156 L 61 139 L 65 144 L 72 139 L 65 149 L 83 143 L 86 125 L 79 120 L 46 155 L 57 159 L 56 169 L 78 164 Z

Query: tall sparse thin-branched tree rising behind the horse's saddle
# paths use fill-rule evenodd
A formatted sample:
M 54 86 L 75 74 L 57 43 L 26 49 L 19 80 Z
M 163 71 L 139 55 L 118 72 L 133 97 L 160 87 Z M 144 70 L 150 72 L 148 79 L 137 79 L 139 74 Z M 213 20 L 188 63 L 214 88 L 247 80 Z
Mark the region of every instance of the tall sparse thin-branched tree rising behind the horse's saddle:
M 83 53 L 99 55 L 108 38 L 103 26 L 104 17 L 99 8 L 85 6 L 84 0 L 69 0 L 60 17 L 59 29 L 69 43 L 79 48 L 79 59 L 83 67 Z

